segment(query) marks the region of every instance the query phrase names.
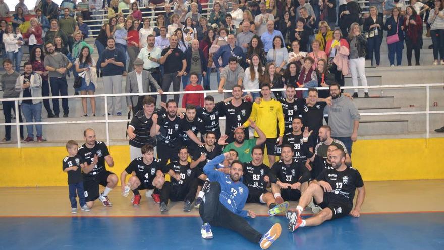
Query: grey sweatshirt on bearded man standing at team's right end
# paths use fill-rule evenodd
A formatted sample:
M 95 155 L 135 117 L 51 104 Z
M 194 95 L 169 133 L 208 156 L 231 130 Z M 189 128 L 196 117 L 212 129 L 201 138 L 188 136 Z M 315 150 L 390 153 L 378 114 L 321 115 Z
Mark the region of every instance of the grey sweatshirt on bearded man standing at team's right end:
M 341 95 L 332 100 L 331 107 L 325 107 L 328 113 L 328 125 L 331 128 L 332 137 L 351 137 L 353 133 L 353 121 L 359 121 L 358 108 L 349 98 Z

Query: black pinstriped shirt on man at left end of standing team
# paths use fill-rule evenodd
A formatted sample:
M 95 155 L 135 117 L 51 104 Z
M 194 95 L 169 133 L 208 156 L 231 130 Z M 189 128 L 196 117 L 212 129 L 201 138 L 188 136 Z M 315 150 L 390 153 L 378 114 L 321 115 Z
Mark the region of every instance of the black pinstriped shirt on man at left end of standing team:
M 159 110 L 154 111 L 154 113 L 157 112 L 159 112 Z M 142 148 L 142 146 L 146 144 L 152 145 L 153 147 L 156 146 L 156 139 L 150 136 L 152 124 L 153 122 L 151 117 L 146 118 L 145 112 L 143 110 L 139 110 L 133 116 L 129 124 L 129 126 L 133 127 L 134 134 L 136 134 L 136 137 L 130 140 L 129 144 L 137 148 Z

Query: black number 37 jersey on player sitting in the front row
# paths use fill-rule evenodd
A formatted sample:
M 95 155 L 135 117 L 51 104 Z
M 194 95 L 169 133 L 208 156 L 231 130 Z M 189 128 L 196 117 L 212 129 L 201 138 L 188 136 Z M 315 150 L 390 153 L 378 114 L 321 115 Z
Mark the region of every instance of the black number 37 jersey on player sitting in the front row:
M 290 165 L 279 160 L 273 164 L 270 170 L 270 181 L 276 183 L 278 180 L 283 183 L 294 184 L 303 183 L 310 179 L 310 173 L 302 162 L 292 161 Z

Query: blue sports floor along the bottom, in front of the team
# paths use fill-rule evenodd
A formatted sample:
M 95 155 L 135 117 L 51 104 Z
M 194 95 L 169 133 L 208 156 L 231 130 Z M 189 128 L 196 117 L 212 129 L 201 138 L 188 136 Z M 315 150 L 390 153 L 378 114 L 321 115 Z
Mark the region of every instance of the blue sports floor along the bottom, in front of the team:
M 444 249 L 444 213 L 347 216 L 290 233 L 284 216 L 249 219 L 260 232 L 283 233 L 270 249 Z M 199 217 L 0 217 L 0 249 L 260 249 L 213 227 L 200 236 Z

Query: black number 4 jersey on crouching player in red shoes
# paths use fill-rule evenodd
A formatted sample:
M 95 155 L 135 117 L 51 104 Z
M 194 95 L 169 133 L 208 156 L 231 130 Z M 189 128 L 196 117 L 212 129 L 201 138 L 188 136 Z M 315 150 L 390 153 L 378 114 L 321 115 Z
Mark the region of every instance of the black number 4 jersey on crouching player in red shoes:
M 136 177 L 139 178 L 141 185 L 151 185 L 156 177 L 157 170 L 162 170 L 160 160 L 153 158 L 151 164 L 147 165 L 143 162 L 143 157 L 135 158 L 125 168 L 127 174 L 136 173 Z

